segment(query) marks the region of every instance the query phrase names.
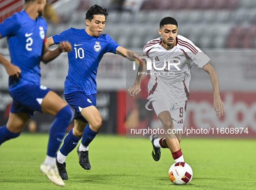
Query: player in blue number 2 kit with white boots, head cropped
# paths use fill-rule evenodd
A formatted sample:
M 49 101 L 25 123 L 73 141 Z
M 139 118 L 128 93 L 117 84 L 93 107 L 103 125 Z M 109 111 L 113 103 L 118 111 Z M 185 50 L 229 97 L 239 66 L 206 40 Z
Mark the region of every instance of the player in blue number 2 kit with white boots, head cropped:
M 0 145 L 20 135 L 34 111 L 55 116 L 52 123 L 47 155 L 40 166 L 49 180 L 64 186 L 56 166 L 56 152 L 72 117 L 70 106 L 56 93 L 40 85 L 40 61 L 47 63 L 61 52 L 71 50 L 69 42 L 60 42 L 49 51 L 45 33 L 47 24 L 41 17 L 46 0 L 25 0 L 24 10 L 5 19 L 0 24 L 0 38 L 7 37 L 11 62 L 0 54 L 0 63 L 9 74 L 9 92 L 13 97 L 10 116 L 0 127 Z

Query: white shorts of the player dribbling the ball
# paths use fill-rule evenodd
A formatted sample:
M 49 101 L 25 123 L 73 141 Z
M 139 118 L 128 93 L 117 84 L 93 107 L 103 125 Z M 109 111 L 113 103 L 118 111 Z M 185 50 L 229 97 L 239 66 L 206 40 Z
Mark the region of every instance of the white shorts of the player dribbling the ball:
M 169 111 L 172 117 L 174 129 L 183 129 L 184 120 L 186 116 L 187 101 L 180 103 L 173 103 L 165 100 L 151 101 L 152 108 L 155 110 L 156 115 L 163 111 Z

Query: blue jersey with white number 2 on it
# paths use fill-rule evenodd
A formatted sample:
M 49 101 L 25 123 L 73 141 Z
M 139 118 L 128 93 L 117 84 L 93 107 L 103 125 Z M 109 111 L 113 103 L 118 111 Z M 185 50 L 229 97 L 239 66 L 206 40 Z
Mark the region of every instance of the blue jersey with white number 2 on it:
M 19 78 L 9 77 L 9 91 L 26 84 L 40 84 L 40 57 L 47 23 L 38 16 L 29 17 L 25 10 L 13 14 L 0 24 L 2 37 L 7 36 L 11 63 L 21 70 Z

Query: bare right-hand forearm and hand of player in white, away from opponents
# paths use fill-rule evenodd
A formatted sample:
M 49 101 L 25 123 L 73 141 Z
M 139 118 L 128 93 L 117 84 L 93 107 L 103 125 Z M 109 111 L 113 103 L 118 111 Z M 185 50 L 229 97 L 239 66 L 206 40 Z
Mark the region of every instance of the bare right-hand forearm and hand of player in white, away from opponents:
M 218 81 L 218 75 L 210 63 L 204 65 L 203 70 L 210 75 L 211 84 L 214 91 L 214 110 L 218 117 L 223 116 L 225 112 L 224 103 L 220 100 L 220 87 Z

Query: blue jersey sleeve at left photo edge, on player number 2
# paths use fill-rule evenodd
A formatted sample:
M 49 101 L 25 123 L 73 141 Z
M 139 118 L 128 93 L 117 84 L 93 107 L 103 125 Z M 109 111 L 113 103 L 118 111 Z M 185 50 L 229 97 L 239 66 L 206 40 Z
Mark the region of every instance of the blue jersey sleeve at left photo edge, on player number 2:
M 15 35 L 19 28 L 20 23 L 16 14 L 14 14 L 13 16 L 5 19 L 3 23 L 0 24 L 1 36 L 5 37 L 6 35 Z

